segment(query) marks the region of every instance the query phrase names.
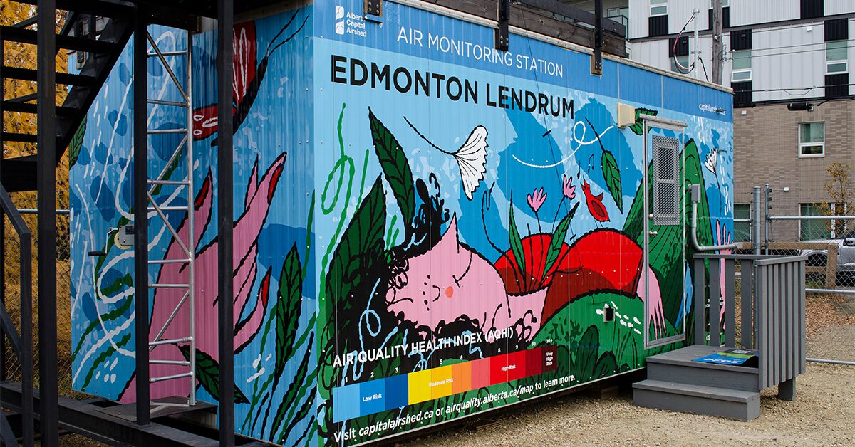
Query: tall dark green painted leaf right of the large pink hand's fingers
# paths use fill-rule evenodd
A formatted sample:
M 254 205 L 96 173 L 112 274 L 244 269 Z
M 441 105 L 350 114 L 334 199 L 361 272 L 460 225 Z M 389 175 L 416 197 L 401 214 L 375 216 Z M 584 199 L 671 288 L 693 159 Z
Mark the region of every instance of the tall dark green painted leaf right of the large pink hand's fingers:
M 276 363 L 274 376 L 279 377 L 285 370 L 285 364 L 294 355 L 297 346 L 294 340 L 297 337 L 298 321 L 300 319 L 300 301 L 303 297 L 303 268 L 300 266 L 300 256 L 297 253 L 297 244 L 282 263 L 282 273 L 279 278 L 279 292 L 273 313 L 276 318 Z

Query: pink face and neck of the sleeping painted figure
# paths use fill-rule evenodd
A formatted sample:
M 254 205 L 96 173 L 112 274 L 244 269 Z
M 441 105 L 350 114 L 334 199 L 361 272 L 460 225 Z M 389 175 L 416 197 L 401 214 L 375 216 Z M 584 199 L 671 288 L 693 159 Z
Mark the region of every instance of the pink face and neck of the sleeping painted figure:
M 457 241 L 457 218 L 431 250 L 409 260 L 406 278 L 392 280 L 386 293 L 389 311 L 428 334 L 466 316 L 485 334 L 522 322 L 522 338 L 540 329 L 545 289 L 510 296 L 496 268 Z M 492 341 L 487 339 L 487 341 Z

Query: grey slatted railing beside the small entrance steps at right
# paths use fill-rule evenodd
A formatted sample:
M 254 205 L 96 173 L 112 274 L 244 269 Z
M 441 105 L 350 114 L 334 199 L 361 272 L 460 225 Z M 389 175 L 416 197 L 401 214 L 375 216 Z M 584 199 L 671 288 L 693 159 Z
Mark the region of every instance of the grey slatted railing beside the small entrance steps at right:
M 807 256 L 694 256 L 694 343 L 721 344 L 721 261 L 724 261 L 724 345 L 736 346 L 736 262 L 741 268 L 741 347 L 758 350 L 761 389 L 805 372 Z M 709 262 L 709 281 L 705 272 Z M 709 304 L 707 304 L 709 295 Z

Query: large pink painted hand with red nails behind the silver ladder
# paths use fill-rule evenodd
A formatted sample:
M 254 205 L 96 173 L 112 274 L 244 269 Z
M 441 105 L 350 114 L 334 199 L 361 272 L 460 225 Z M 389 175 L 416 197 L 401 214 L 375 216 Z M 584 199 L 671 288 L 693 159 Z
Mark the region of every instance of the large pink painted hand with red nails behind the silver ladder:
M 257 334 L 262 325 L 267 303 L 270 285 L 270 272 L 268 271 L 262 279 L 262 285 L 254 307 L 249 315 L 240 320 L 240 315 L 245 312 L 245 307 L 250 301 L 252 285 L 255 284 L 257 274 L 256 257 L 258 253 L 258 234 L 262 230 L 267 218 L 270 203 L 273 200 L 274 191 L 279 183 L 280 175 L 285 164 L 286 154 L 283 153 L 274 160 L 268 171 L 258 180 L 258 162 L 252 168 L 249 185 L 246 191 L 245 210 L 234 223 L 234 350 L 238 352 L 249 344 Z M 211 221 L 212 199 L 211 174 L 205 177 L 202 187 L 196 197 L 194 205 L 194 240 L 202 238 Z M 181 240 L 187 240 L 186 220 L 182 221 L 177 229 Z M 186 257 L 180 245 L 174 241 L 169 245 L 165 259 L 181 259 Z M 161 284 L 186 284 L 186 265 L 182 263 L 163 264 L 160 274 L 156 280 Z M 195 316 L 196 333 L 211 334 L 217 325 L 218 297 L 217 293 L 217 242 L 206 245 L 197 250 L 195 277 Z M 152 305 L 149 340 L 154 340 L 168 321 L 175 305 L 184 296 L 182 289 L 156 289 L 154 303 Z M 188 334 L 187 321 L 188 307 L 186 303 L 181 307 L 167 330 L 159 339 L 184 338 Z M 201 350 L 215 361 L 219 359 L 217 349 L 217 338 L 211 335 L 197 337 L 196 349 Z M 181 344 L 186 346 L 186 344 Z M 183 361 L 185 357 L 181 354 L 176 344 L 160 344 L 150 350 L 152 360 Z M 185 373 L 187 367 L 174 365 L 154 365 L 150 368 L 151 377 L 160 377 L 176 373 Z M 121 402 L 134 402 L 136 376 L 129 381 L 125 391 L 121 395 Z M 189 393 L 189 381 L 186 379 L 174 379 L 157 382 L 151 386 L 151 398 L 186 396 Z

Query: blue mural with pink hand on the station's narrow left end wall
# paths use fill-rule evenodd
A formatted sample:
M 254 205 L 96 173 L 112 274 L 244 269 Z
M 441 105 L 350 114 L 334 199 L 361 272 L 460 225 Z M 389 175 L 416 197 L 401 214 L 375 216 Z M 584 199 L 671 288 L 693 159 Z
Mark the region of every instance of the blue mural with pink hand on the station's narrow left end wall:
M 315 304 L 309 298 L 314 295 L 314 285 L 306 284 L 313 274 L 313 198 L 310 171 L 304 169 L 306 154 L 300 153 L 306 146 L 298 144 L 310 134 L 297 134 L 288 141 L 273 134 L 259 138 L 262 126 L 248 120 L 261 115 L 270 121 L 285 120 L 285 116 L 274 113 L 277 101 L 304 100 L 305 89 L 300 85 L 306 85 L 308 80 L 300 72 L 304 71 L 301 64 L 307 62 L 301 58 L 311 42 L 295 38 L 304 37 L 310 29 L 310 9 L 300 9 L 286 17 L 287 21 L 275 17 L 241 23 L 233 31 L 235 149 L 240 150 L 234 168 L 233 386 L 239 432 L 257 438 L 280 438 L 283 444 L 302 444 L 314 438 L 316 428 Z M 150 32 L 163 51 L 186 49 L 184 32 L 154 26 Z M 196 103 L 215 102 L 215 91 L 209 91 L 215 80 L 215 54 L 209 53 L 214 40 L 215 35 L 210 33 L 193 38 Z M 72 262 L 73 271 L 83 279 L 91 276 L 89 281 L 75 284 L 72 293 L 74 308 L 79 311 L 74 316 L 74 386 L 122 402 L 133 402 L 136 397 L 133 249 L 118 247 L 109 228 L 133 221 L 133 115 L 128 94 L 133 85 L 129 77 L 132 56 L 128 48 L 93 106 L 89 128 L 81 131 L 80 146 L 72 150 L 71 171 L 76 229 L 73 244 L 77 255 Z M 186 72 L 184 56 L 167 56 L 167 61 L 179 76 Z M 275 75 L 268 74 L 268 68 Z M 286 76 L 295 82 L 282 88 L 280 79 Z M 150 96 L 163 101 L 180 100 L 168 73 L 156 60 L 150 63 L 149 82 L 155 92 Z M 186 88 L 186 84 L 181 87 Z M 107 111 L 102 114 L 101 110 Z M 216 106 L 197 108 L 192 116 L 193 136 L 198 141 L 193 148 L 197 164 L 193 169 L 196 189 L 192 203 L 197 350 L 190 353 L 186 343 L 160 344 L 150 351 L 150 358 L 186 361 L 195 356 L 198 399 L 215 403 L 220 392 L 216 337 Z M 185 123 L 186 109 L 150 106 L 151 128 L 182 127 Z M 255 138 L 242 140 L 241 132 L 251 132 Z M 174 138 L 150 137 L 150 172 L 165 169 L 165 179 L 186 179 L 183 153 L 179 162 L 167 164 L 171 155 L 168 151 L 178 143 Z M 280 149 L 268 150 L 265 145 Z M 302 198 L 286 203 L 284 197 L 289 195 Z M 162 186 L 154 190 L 153 196 L 158 203 L 181 206 L 186 192 Z M 289 216 L 294 210 L 298 213 Z M 186 215 L 167 214 L 180 239 L 186 241 Z M 184 257 L 180 244 L 168 237 L 153 211 L 149 225 L 150 259 Z M 280 247 L 285 249 L 279 250 Z M 94 250 L 103 250 L 104 254 L 87 256 L 88 251 Z M 186 264 L 156 267 L 150 268 L 150 282 L 186 283 Z M 160 333 L 184 293 L 180 289 L 152 289 L 150 340 L 186 336 L 186 306 L 172 317 L 174 324 Z M 186 372 L 186 367 L 156 365 L 150 371 L 152 377 L 157 377 Z M 186 380 L 158 382 L 151 385 L 151 395 L 186 396 L 188 385 Z

